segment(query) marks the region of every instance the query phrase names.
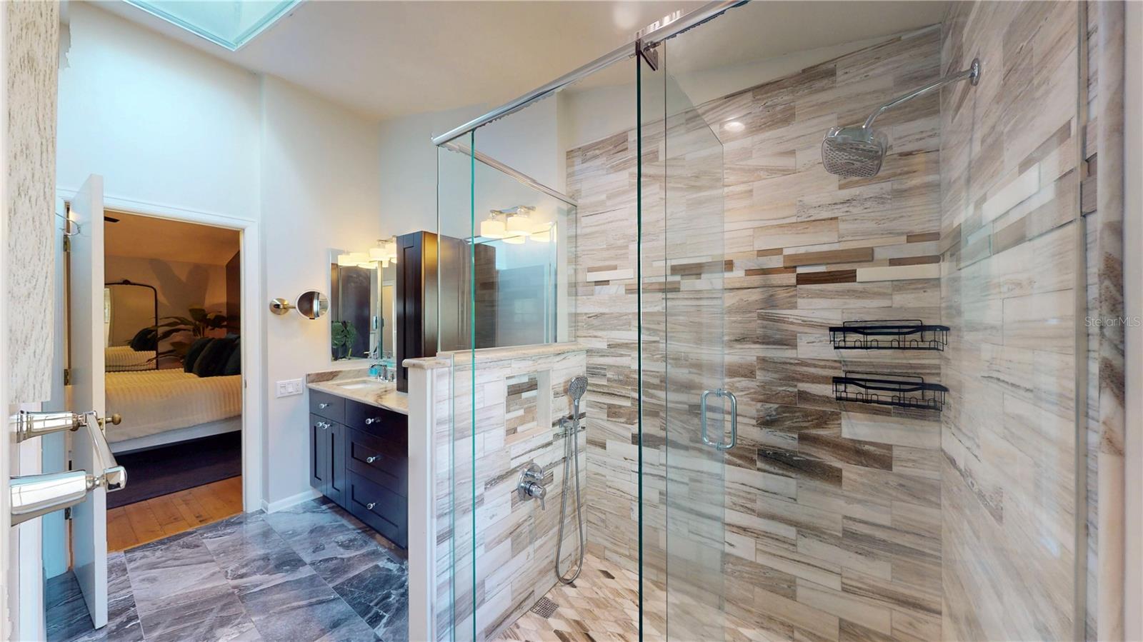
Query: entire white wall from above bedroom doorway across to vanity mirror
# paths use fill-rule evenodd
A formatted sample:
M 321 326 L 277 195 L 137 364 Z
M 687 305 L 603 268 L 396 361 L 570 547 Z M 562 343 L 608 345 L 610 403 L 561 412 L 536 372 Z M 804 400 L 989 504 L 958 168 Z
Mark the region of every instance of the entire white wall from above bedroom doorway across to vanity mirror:
M 377 122 L 88 3 L 72 2 L 70 18 L 59 188 L 101 174 L 121 209 L 258 222 L 265 258 L 259 282 L 247 287 L 261 315 L 247 321 L 265 355 L 255 366 L 265 382 L 256 393 L 265 435 L 259 495 L 273 504 L 309 492 L 305 396 L 271 391 L 277 380 L 333 368 L 329 324 L 270 315 L 263 292 L 328 292 L 328 249 L 363 250 L 382 236 Z

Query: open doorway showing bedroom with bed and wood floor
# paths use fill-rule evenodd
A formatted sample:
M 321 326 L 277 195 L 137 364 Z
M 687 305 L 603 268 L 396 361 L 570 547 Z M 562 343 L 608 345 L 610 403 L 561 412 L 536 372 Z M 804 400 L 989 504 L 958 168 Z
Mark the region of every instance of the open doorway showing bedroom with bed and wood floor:
M 242 511 L 241 233 L 104 211 L 107 549 Z

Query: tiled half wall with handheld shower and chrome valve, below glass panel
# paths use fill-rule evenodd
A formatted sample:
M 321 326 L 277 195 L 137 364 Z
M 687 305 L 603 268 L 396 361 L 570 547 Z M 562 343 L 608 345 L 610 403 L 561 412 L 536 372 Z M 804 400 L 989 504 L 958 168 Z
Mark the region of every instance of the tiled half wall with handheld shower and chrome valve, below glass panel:
M 449 639 L 451 627 L 457 640 L 493 640 L 555 586 L 565 465 L 565 443 L 557 433 L 560 418 L 572 414 L 568 383 L 586 372 L 586 353 L 578 344 L 491 348 L 475 355 L 473 361 L 466 352 L 442 353 L 431 372 L 434 468 L 440 473 L 434 480 L 434 565 L 441 640 Z M 590 404 L 581 404 L 584 411 L 591 414 Z M 583 433 L 578 439 L 583 471 Z M 545 507 L 517 492 L 520 473 L 533 463 L 544 471 Z M 569 496 L 565 570 L 576 552 L 572 506 Z

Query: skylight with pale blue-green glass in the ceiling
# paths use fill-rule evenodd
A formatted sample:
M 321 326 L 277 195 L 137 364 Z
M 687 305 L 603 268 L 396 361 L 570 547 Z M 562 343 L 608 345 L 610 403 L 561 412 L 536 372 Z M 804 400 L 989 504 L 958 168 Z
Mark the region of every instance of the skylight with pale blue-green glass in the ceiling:
M 231 51 L 254 40 L 302 0 L 125 0 Z

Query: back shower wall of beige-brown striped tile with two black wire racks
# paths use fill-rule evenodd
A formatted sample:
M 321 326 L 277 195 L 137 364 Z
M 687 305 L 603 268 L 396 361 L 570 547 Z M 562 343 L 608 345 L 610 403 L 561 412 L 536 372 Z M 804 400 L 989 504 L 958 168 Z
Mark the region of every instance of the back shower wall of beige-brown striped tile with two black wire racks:
M 644 128 L 645 169 L 668 168 L 645 172 L 644 312 L 656 314 L 646 314 L 644 327 L 644 460 L 649 470 L 663 460 L 664 387 L 678 398 L 663 363 L 679 366 L 670 347 L 664 355 L 647 340 L 647 330 L 662 326 L 664 303 L 668 329 L 672 314 L 694 318 L 696 291 L 720 281 L 720 352 L 726 387 L 738 399 L 738 444 L 726 458 L 725 543 L 716 563 L 725 571 L 727 612 L 786 639 L 941 636 L 940 416 L 842 404 L 831 387 L 842 370 L 940 380 L 940 355 L 842 354 L 828 332 L 853 320 L 940 320 L 940 99 L 921 98 L 879 119 L 892 149 L 877 177 L 839 178 L 824 171 L 820 157 L 830 127 L 861 122 L 940 73 L 941 30 L 930 27 L 672 115 L 665 147 L 655 125 Z M 724 129 L 730 120 L 745 127 Z M 725 162 L 724 260 L 717 262 L 688 256 L 701 252 L 681 250 L 671 227 L 687 219 L 674 218 L 678 194 L 695 190 L 671 184 L 672 163 L 701 162 L 709 150 L 690 153 L 680 142 L 706 128 Z M 589 551 L 632 569 L 640 535 L 636 161 L 634 131 L 567 158 L 580 202 L 576 338 L 588 347 L 591 382 Z M 664 188 L 665 207 L 655 200 Z M 665 232 L 647 216 L 656 208 L 670 220 Z M 692 338 L 701 332 L 687 331 Z M 702 363 L 687 368 L 702 370 Z M 687 403 L 671 409 L 673 416 Z M 697 423 L 693 428 L 697 440 Z M 666 431 L 687 439 L 686 425 Z M 657 471 L 644 478 L 644 570 L 653 581 L 664 579 L 666 539 L 655 508 L 669 482 Z

